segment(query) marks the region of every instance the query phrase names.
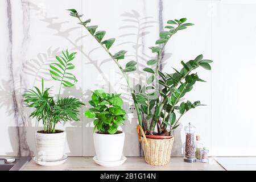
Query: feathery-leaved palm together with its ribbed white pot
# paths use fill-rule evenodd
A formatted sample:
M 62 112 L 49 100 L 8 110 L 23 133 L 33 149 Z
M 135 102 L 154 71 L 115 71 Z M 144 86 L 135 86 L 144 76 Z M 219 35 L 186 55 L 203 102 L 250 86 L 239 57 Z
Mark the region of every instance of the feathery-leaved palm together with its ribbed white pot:
M 79 108 L 84 105 L 77 98 L 60 98 L 62 86 L 71 88 L 77 82 L 75 75 L 69 72 L 75 69 L 75 65 L 71 63 L 75 54 L 76 52 L 69 54 L 67 50 L 63 52 L 63 56 L 56 56 L 56 63 L 49 65 L 51 77 L 60 82 L 56 99 L 49 93 L 50 88 L 44 88 L 43 79 L 41 89 L 35 86 L 35 89 L 27 90 L 23 94 L 25 106 L 34 108 L 30 117 L 43 122 L 44 129 L 35 133 L 38 151 L 36 158 L 42 161 L 57 161 L 63 158 L 66 132 L 56 129 L 56 125 L 59 122 L 79 121 Z

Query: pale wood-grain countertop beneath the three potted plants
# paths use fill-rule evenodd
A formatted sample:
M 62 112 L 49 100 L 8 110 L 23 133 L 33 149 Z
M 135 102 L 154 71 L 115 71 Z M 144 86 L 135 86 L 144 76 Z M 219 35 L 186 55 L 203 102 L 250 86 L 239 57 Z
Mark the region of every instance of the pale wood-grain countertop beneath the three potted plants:
M 99 166 L 94 163 L 91 157 L 69 157 L 68 160 L 61 164 L 60 166 L 55 167 L 43 167 L 36 164 L 33 160 L 31 160 L 24 168 L 25 171 L 34 171 L 34 170 L 56 170 L 56 171 L 69 171 L 69 170 L 96 170 L 96 171 L 104 171 L 104 170 L 117 170 L 117 171 L 147 171 L 147 170 L 156 170 L 156 171 L 190 171 L 190 170 L 225 170 L 220 166 L 213 158 L 210 158 L 209 163 L 186 163 L 183 162 L 183 158 L 181 157 L 172 157 L 169 164 L 166 166 L 151 166 L 146 164 L 143 157 L 127 157 L 127 160 L 122 166 L 106 168 Z

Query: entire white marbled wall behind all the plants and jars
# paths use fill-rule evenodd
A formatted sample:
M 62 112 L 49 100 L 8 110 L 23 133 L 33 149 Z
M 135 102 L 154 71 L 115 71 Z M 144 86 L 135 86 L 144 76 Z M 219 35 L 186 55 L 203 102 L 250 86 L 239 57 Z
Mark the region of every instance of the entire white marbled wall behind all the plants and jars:
M 198 70 L 199 76 L 208 82 L 197 83 L 186 96 L 207 106 L 191 110 L 181 119 L 172 155 L 182 155 L 184 126 L 192 122 L 211 155 L 255 156 L 256 22 L 253 18 L 256 1 L 5 0 L 0 2 L 0 7 L 0 155 L 35 152 L 34 132 L 38 124 L 28 118 L 30 110 L 23 109 L 20 94 L 24 89 L 40 86 L 41 77 L 50 79 L 44 75 L 44 68 L 62 49 L 78 52 L 74 62 L 79 82 L 76 88 L 64 90 L 64 96 L 71 94 L 87 103 L 90 90 L 102 88 L 123 93 L 129 103 L 118 68 L 65 11 L 75 8 L 84 14 L 84 19 L 92 19 L 98 30 L 105 30 L 105 38 L 117 38 L 111 48 L 113 53 L 125 49 L 128 60 L 138 60 L 137 73 L 141 73 L 146 61 L 154 56 L 147 47 L 154 46 L 162 22 L 165 26 L 168 19 L 186 17 L 188 22 L 195 23 L 172 38 L 165 50 L 163 70 L 172 72 L 171 67 L 181 68 L 181 60 L 193 59 L 201 53 L 212 59 L 212 72 Z M 138 74 L 130 78 L 137 80 Z M 53 93 L 57 92 L 55 81 L 47 81 L 47 85 L 53 85 Z M 92 120 L 82 114 L 87 108 L 81 110 L 82 122 L 58 126 L 67 130 L 69 156 L 94 155 Z M 141 154 L 135 130 L 137 119 L 133 117 L 129 114 L 122 128 L 126 132 L 126 156 Z

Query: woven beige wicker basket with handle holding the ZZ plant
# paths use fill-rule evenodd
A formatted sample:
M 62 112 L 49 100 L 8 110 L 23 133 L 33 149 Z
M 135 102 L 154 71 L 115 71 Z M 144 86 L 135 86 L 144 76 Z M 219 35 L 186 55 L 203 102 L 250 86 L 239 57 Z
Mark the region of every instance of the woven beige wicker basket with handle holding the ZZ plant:
M 170 162 L 172 144 L 174 137 L 170 139 L 151 139 L 146 138 L 141 126 L 137 126 L 139 141 L 142 144 L 144 157 L 147 164 L 163 166 Z M 141 135 L 143 137 L 141 137 Z

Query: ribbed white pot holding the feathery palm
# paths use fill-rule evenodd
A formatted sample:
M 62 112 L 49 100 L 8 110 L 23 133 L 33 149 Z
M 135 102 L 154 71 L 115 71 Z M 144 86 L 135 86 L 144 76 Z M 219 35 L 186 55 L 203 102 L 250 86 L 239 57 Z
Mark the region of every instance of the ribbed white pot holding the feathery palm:
M 66 132 L 61 133 L 35 133 L 36 150 L 38 159 L 42 161 L 59 160 L 64 155 Z

